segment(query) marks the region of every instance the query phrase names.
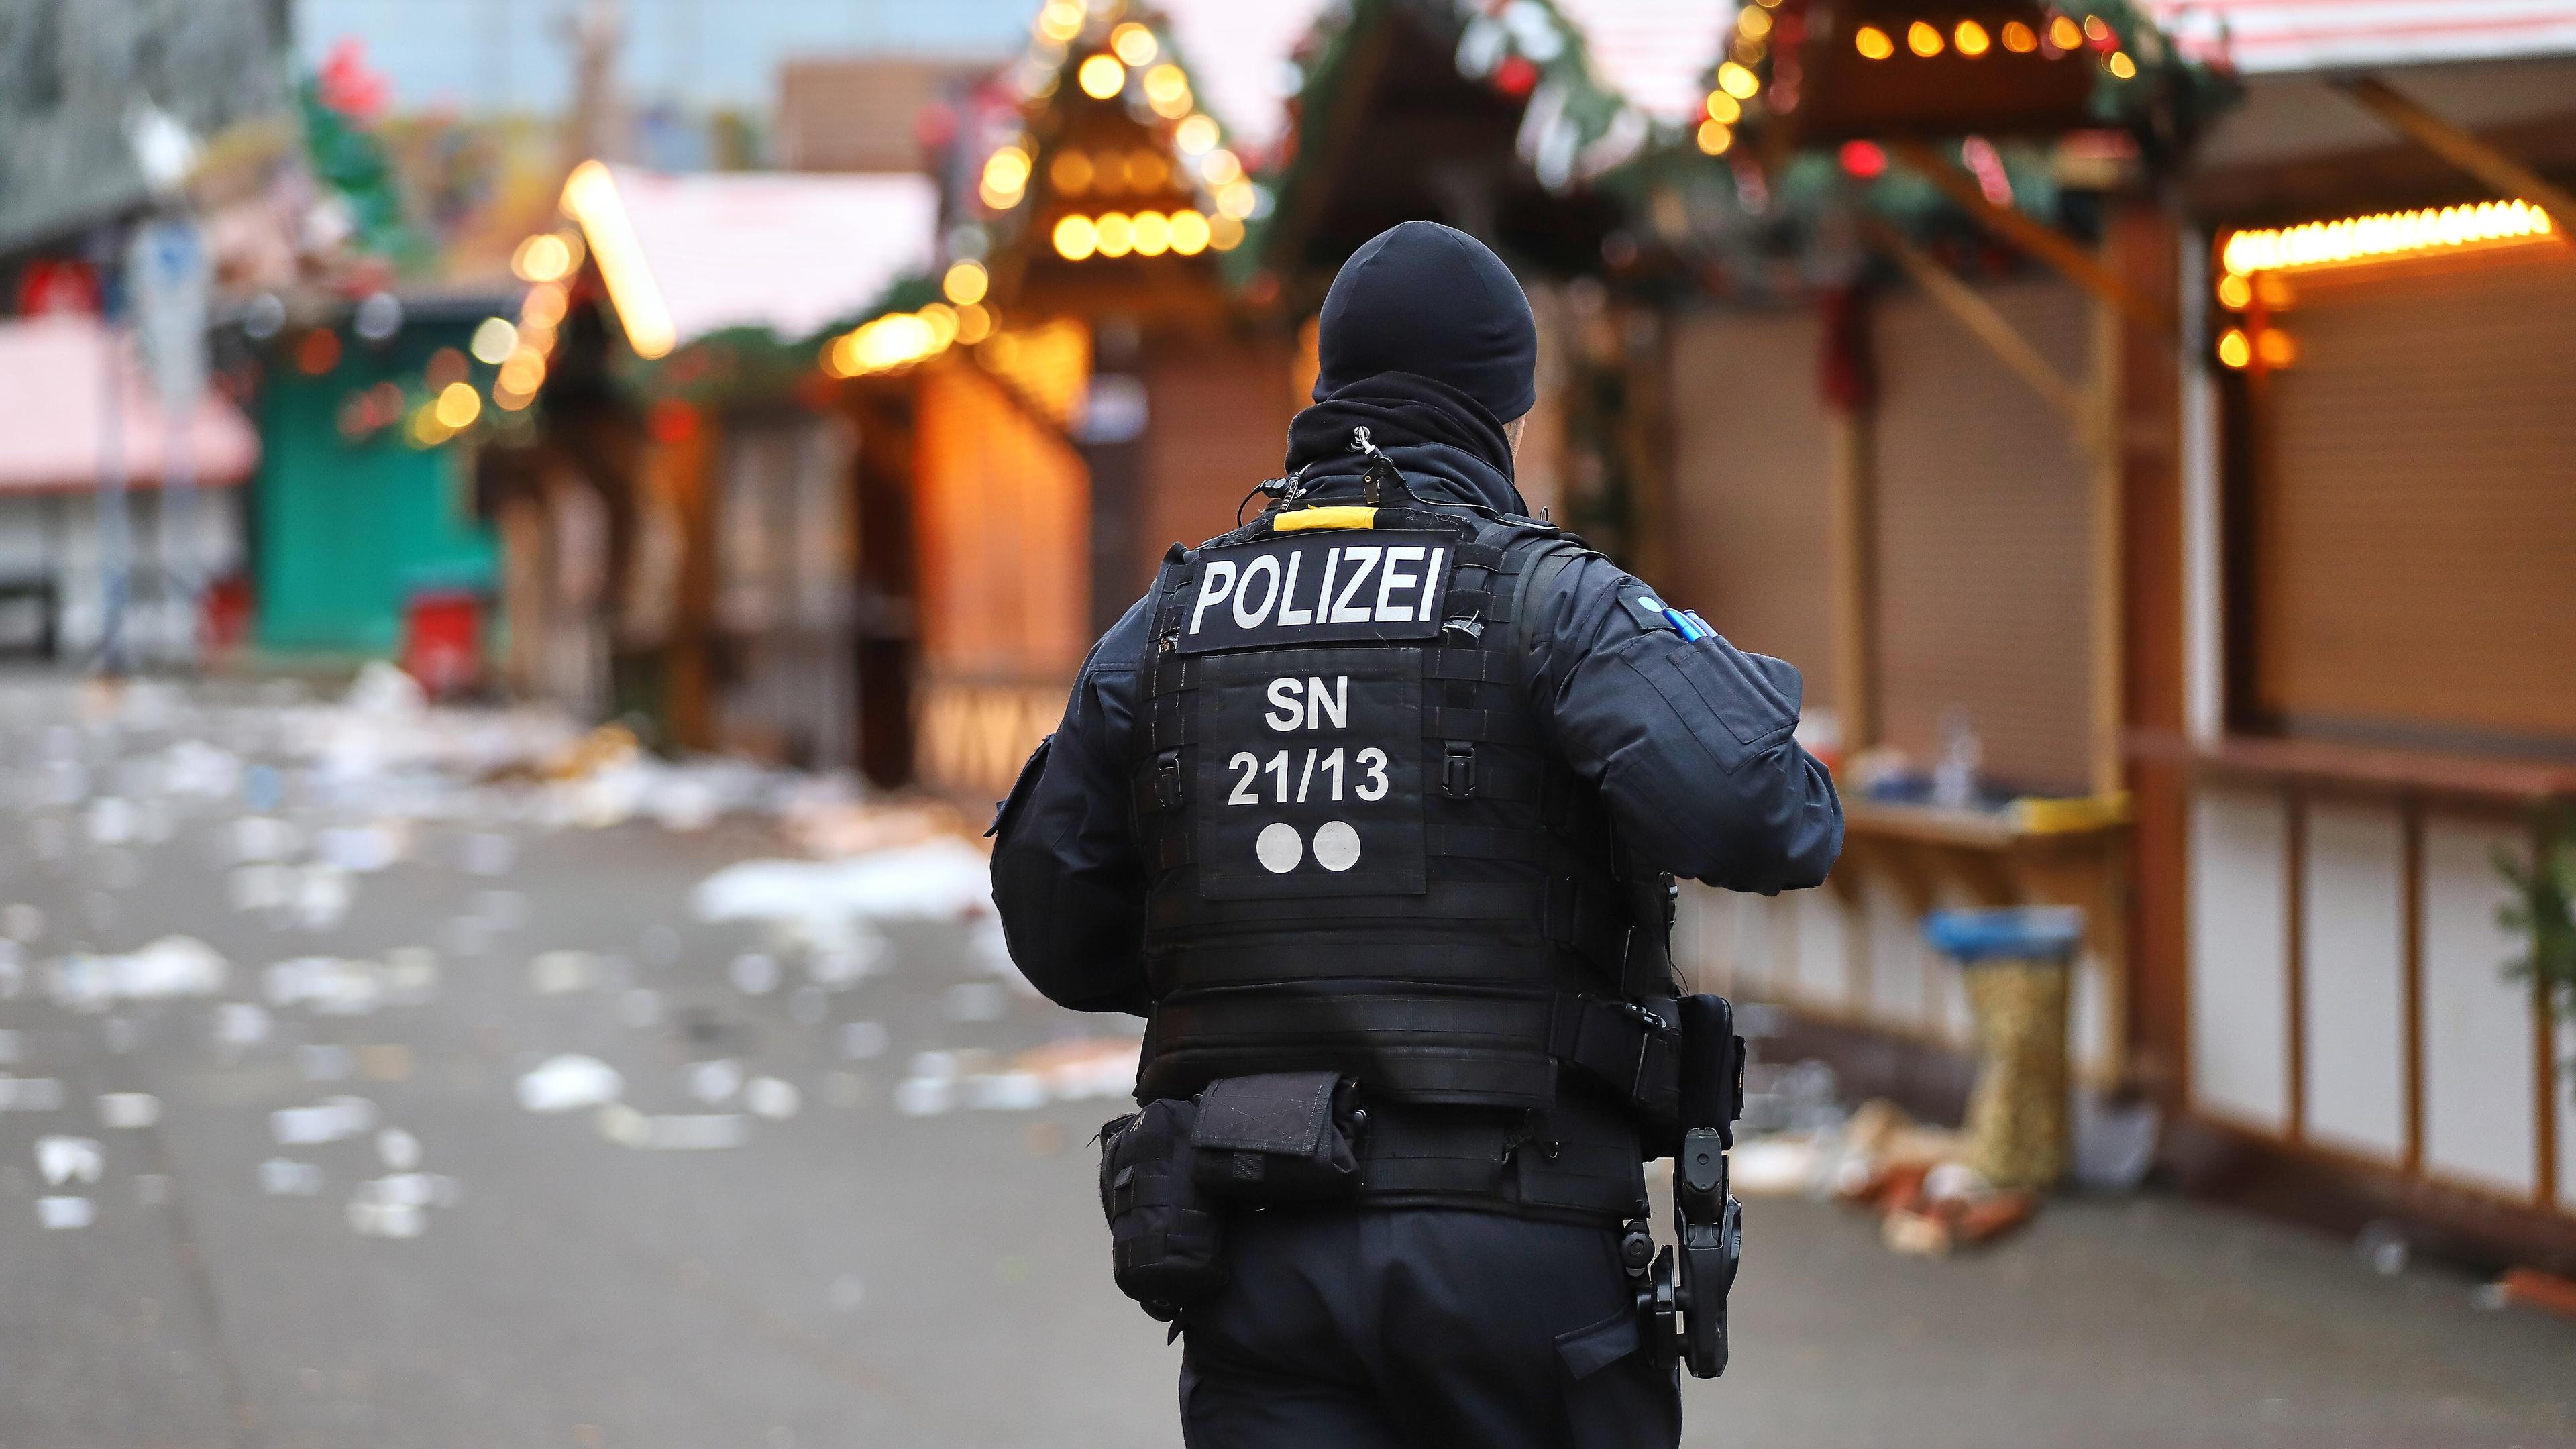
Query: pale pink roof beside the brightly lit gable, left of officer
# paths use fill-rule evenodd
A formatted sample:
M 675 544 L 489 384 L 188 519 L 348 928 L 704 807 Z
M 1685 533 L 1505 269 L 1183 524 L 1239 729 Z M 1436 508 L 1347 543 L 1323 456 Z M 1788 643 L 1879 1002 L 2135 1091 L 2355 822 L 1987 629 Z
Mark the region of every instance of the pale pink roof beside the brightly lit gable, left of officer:
M 613 168 L 677 343 L 726 327 L 806 338 L 930 266 L 927 175 L 662 175 Z

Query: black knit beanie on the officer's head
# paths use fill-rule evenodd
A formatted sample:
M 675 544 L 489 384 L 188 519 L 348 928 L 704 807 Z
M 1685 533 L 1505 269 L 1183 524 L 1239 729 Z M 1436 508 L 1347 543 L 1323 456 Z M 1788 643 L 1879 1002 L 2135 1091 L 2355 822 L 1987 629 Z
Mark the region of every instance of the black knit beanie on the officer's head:
M 1510 423 L 1538 402 L 1538 325 L 1512 268 L 1440 222 L 1388 227 L 1350 253 L 1316 320 L 1314 400 L 1412 371 Z

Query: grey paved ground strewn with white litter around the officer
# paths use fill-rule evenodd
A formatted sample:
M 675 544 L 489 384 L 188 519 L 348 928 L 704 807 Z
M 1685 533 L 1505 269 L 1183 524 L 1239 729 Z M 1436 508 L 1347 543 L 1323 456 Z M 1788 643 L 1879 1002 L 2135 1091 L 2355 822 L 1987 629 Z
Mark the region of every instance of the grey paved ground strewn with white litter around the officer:
M 319 926 L 240 910 L 242 807 L 183 802 L 167 841 L 95 843 L 124 835 L 95 807 L 124 789 L 111 758 L 173 735 L 46 735 L 59 704 L 0 699 L 0 905 L 44 913 L 23 990 L 0 998 L 15 1031 L 0 1070 L 57 1080 L 64 1101 L 0 1111 L 0 1444 L 1177 1441 L 1177 1348 L 1110 1289 L 1092 1204 L 1084 1140 L 1113 1104 L 904 1111 L 940 1091 L 1025 1101 L 997 1062 L 1103 1031 L 1007 987 L 997 1000 L 971 923 L 889 926 L 884 969 L 840 990 L 806 987 L 786 951 L 778 985 L 747 993 L 734 962 L 770 936 L 696 923 L 688 890 L 773 851 L 765 825 L 541 830 L 489 804 L 417 822 L 399 864 L 345 877 L 345 920 L 327 900 Z M 64 748 L 90 789 L 46 804 Z M 384 804 L 283 781 L 281 817 L 307 841 Z M 507 874 L 461 869 L 497 864 L 489 835 L 515 841 Z M 49 962 L 175 931 L 232 962 L 216 995 L 57 1000 Z M 263 980 L 317 954 L 417 962 L 402 946 L 438 962 L 410 1006 L 322 1013 Z M 531 967 L 544 951 L 595 959 Z M 744 980 L 768 985 L 757 964 Z M 252 1003 L 265 1039 L 224 1042 Z M 876 1034 L 850 1024 L 878 1024 L 886 1049 L 853 1055 Z M 641 1150 L 587 1109 L 523 1111 L 515 1080 L 562 1052 L 616 1065 L 639 1114 L 744 1140 Z M 796 1111 L 744 1114 L 703 1062 L 796 1085 Z M 904 1085 L 943 1070 L 951 1088 Z M 95 1098 L 137 1091 L 160 1122 L 106 1127 Z M 374 1104 L 374 1132 L 278 1142 L 276 1109 L 340 1093 Z M 353 1225 L 386 1225 L 350 1207 L 407 1160 L 386 1127 L 417 1142 L 428 1176 L 404 1181 L 435 1196 L 412 1238 Z M 100 1145 L 98 1181 L 44 1181 L 36 1145 L 64 1134 Z M 263 1163 L 301 1165 L 270 1186 L 319 1191 L 263 1191 Z M 82 1196 L 95 1222 L 39 1227 L 41 1196 Z M 2161 1199 L 2063 1204 L 1945 1263 L 1888 1256 L 1839 1209 L 1759 1201 L 1736 1369 L 1687 1387 L 1690 1444 L 2576 1444 L 2576 1325 L 2478 1310 L 2470 1289 Z

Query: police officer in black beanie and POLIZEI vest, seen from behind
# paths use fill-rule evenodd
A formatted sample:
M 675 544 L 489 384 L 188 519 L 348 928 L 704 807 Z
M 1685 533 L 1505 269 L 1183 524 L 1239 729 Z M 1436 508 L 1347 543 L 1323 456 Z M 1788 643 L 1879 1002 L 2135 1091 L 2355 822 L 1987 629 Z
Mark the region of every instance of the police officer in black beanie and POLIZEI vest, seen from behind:
M 1149 1018 L 1136 1098 L 1226 1194 L 1188 1220 L 1221 1287 L 1154 1305 L 1188 1444 L 1674 1444 L 1620 1258 L 1672 1152 L 1669 882 L 1814 887 L 1842 804 L 1795 668 L 1528 518 L 1494 253 L 1378 235 L 1316 345 L 1270 508 L 1167 554 L 1002 804 L 1010 951 Z M 1195 1191 L 1133 1171 L 1113 1214 Z

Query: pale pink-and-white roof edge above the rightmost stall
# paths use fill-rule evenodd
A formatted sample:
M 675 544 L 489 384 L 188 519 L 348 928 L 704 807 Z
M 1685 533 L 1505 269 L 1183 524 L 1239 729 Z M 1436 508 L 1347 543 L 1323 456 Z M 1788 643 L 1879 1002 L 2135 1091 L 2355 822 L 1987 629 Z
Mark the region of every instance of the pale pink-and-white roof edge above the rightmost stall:
M 2244 75 L 2576 54 L 2576 0 L 2146 0 Z

